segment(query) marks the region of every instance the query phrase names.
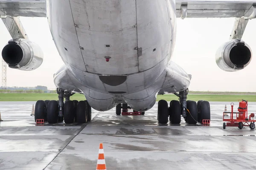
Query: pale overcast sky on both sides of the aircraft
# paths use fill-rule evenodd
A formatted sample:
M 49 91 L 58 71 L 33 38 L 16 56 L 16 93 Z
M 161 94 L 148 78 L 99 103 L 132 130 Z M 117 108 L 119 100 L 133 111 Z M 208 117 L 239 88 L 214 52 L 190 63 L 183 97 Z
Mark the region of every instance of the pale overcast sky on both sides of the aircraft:
M 44 62 L 35 71 L 19 71 L 7 68 L 7 86 L 34 87 L 44 85 L 55 88 L 53 74 L 63 65 L 52 40 L 46 18 L 25 18 L 21 22 L 29 39 L 41 46 Z M 255 92 L 256 59 L 242 71 L 225 72 L 215 63 L 218 47 L 229 40 L 234 18 L 228 19 L 185 19 L 177 20 L 177 40 L 172 60 L 188 74 L 192 74 L 189 89 L 192 91 L 245 91 Z M 243 40 L 256 53 L 256 20 L 250 20 Z M 11 39 L 9 32 L 0 22 L 0 51 Z M 0 69 L 2 71 L 2 69 Z

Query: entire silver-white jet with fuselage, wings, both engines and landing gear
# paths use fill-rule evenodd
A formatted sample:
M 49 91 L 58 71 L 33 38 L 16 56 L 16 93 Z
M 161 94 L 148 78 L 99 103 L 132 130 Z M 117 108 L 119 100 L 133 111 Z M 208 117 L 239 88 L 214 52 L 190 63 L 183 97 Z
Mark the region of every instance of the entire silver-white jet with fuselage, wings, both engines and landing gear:
M 158 121 L 195 124 L 210 119 L 209 102 L 186 101 L 191 75 L 171 61 L 176 17 L 236 17 L 230 41 L 221 45 L 216 62 L 224 71 L 245 68 L 252 59 L 241 40 L 254 1 L 211 0 L 46 0 L 0 1 L 3 22 L 12 40 L 2 56 L 11 68 L 34 70 L 43 62 L 40 47 L 28 40 L 18 16 L 47 17 L 64 65 L 54 75 L 59 101 L 38 101 L 35 119 L 49 123 L 85 123 L 90 107 L 108 111 L 129 107 L 144 114 L 157 94 L 174 93 L 179 101 L 158 103 Z M 12 25 L 12 27 L 10 27 Z M 186 48 L 186 47 L 184 47 Z M 70 101 L 82 93 L 87 101 Z M 179 94 L 177 94 L 179 93 Z M 64 103 L 64 98 L 66 102 Z

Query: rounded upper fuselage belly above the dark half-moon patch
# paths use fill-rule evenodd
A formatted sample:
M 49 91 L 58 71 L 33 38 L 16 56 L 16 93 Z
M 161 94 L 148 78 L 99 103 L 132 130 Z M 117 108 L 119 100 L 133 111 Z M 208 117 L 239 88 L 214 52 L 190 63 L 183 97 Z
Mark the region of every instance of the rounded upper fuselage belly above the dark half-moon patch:
M 50 29 L 65 64 L 107 75 L 142 72 L 171 55 L 172 8 L 166 0 L 47 0 Z

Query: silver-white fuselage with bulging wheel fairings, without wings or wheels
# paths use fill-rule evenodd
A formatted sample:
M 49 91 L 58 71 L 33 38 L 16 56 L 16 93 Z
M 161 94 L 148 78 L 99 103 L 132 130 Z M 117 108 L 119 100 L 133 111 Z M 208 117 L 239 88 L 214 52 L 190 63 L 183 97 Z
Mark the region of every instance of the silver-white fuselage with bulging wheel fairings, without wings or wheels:
M 189 76 L 171 62 L 176 38 L 173 0 L 47 0 L 47 18 L 64 66 L 54 82 L 82 92 L 106 111 L 126 102 L 153 107 L 161 92 L 183 91 Z

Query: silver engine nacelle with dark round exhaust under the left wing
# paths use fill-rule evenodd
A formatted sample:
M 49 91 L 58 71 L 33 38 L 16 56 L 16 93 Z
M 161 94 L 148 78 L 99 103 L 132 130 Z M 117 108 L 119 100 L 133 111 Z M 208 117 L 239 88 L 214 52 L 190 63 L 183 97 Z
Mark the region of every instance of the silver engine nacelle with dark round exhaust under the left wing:
M 44 53 L 34 42 L 19 38 L 8 42 L 3 48 L 2 57 L 10 68 L 31 71 L 42 64 Z

